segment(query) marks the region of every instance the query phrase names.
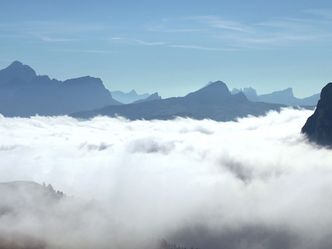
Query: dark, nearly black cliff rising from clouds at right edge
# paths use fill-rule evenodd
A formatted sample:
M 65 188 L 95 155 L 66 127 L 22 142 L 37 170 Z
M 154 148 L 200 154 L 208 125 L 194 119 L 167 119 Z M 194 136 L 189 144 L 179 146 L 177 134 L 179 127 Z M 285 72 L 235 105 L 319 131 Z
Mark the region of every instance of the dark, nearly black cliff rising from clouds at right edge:
M 317 108 L 303 126 L 302 133 L 312 142 L 332 147 L 332 83 L 322 89 Z

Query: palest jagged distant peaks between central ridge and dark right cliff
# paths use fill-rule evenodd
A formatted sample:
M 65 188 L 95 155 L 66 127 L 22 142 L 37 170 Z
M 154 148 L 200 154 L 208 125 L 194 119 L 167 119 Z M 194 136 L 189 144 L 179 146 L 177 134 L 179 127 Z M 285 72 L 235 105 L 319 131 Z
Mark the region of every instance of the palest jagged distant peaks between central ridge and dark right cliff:
M 292 88 L 275 91 L 269 94 L 257 95 L 254 88 L 233 89 L 232 93 L 243 92 L 246 97 L 255 102 L 275 103 L 288 106 L 315 106 L 319 99 L 319 94 L 314 94 L 306 98 L 296 98 Z

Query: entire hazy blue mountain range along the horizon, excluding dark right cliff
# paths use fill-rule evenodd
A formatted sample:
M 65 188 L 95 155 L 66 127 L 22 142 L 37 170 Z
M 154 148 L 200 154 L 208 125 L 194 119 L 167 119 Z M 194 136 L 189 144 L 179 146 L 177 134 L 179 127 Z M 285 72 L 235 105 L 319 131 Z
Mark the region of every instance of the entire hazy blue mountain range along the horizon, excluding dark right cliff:
M 298 99 L 290 88 L 266 95 L 257 95 L 252 88 L 230 92 L 225 83 L 216 81 L 186 96 L 162 99 L 158 93 L 110 92 L 101 79 L 91 76 L 65 81 L 50 79 L 37 75 L 19 61 L 0 70 L 0 113 L 9 117 L 107 115 L 128 119 L 190 117 L 226 121 L 263 115 L 287 105 L 314 106 L 318 97 Z

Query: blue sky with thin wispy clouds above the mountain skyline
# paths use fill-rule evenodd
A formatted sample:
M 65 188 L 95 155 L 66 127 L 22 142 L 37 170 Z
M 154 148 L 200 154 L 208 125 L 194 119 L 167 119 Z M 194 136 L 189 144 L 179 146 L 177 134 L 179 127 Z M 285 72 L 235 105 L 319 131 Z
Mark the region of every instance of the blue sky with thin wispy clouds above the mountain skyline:
M 183 95 L 209 81 L 297 96 L 332 81 L 332 2 L 1 0 L 0 66 Z

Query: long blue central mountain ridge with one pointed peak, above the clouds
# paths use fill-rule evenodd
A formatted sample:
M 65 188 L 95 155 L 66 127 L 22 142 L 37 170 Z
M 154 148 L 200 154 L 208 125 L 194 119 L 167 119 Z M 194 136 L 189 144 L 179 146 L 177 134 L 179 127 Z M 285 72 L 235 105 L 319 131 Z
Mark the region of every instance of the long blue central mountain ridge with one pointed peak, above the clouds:
M 278 104 L 251 102 L 243 93 L 232 95 L 225 83 L 216 81 L 184 97 L 107 106 L 93 111 L 74 113 L 72 116 L 92 118 L 98 115 L 118 115 L 128 119 L 189 117 L 226 121 L 247 115 L 263 115 L 269 110 L 279 110 L 281 107 L 282 105 Z

